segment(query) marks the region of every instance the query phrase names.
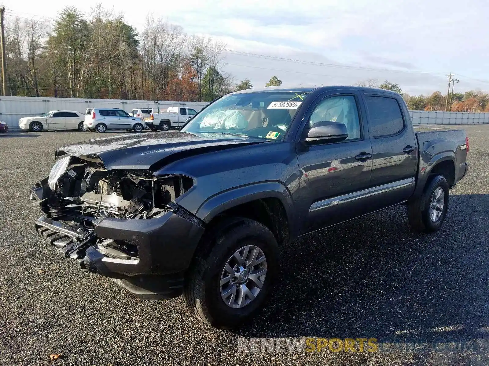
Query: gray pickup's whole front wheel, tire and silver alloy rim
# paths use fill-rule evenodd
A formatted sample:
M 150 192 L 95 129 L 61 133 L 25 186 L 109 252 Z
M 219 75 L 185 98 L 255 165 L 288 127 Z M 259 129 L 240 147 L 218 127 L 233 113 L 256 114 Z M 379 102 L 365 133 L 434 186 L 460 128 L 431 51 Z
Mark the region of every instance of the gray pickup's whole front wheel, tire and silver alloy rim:
M 278 276 L 278 245 L 256 221 L 222 223 L 198 250 L 184 294 L 197 318 L 231 328 L 252 318 L 266 303 Z

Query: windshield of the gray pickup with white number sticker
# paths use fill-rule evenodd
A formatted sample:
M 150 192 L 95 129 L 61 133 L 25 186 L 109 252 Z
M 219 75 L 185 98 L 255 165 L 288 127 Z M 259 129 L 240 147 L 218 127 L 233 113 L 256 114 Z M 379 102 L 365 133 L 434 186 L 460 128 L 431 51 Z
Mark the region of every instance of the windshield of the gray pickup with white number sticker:
M 182 131 L 282 140 L 309 94 L 302 91 L 230 94 L 205 108 Z

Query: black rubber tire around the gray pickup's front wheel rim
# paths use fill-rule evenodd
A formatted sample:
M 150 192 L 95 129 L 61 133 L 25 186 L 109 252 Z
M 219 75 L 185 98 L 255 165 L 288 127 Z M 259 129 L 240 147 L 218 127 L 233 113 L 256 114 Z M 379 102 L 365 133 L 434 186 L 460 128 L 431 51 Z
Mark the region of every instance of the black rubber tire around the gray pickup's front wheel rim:
M 200 321 L 227 329 L 252 318 L 265 305 L 278 277 L 279 250 L 271 231 L 253 220 L 233 218 L 222 222 L 212 232 L 212 235 L 203 238 L 196 252 L 185 279 L 184 295 L 189 309 Z M 267 272 L 256 297 L 243 307 L 233 308 L 222 299 L 221 276 L 233 253 L 247 245 L 262 250 Z M 247 265 L 246 262 L 244 265 Z

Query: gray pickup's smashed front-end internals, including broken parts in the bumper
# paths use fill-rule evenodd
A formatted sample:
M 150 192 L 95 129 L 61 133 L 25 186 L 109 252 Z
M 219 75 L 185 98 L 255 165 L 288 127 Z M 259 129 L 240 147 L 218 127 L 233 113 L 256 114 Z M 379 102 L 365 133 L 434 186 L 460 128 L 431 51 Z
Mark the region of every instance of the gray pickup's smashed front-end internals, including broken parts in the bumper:
M 58 158 L 49 177 L 33 187 L 45 218 L 38 231 L 66 257 L 82 258 L 90 245 L 109 258 L 137 260 L 131 242 L 100 238 L 96 223 L 104 218 L 156 219 L 168 211 L 200 224 L 174 201 L 193 180 L 181 175 L 152 176 L 149 170 L 107 170 L 103 163 L 66 155 Z M 59 225 L 57 227 L 56 225 Z

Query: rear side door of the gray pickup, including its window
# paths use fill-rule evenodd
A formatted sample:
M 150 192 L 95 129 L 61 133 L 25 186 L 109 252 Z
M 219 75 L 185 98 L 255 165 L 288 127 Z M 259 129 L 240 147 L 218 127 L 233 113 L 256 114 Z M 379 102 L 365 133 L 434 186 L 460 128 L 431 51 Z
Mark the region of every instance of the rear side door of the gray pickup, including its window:
M 417 170 L 416 136 L 400 97 L 365 94 L 372 142 L 370 211 L 406 201 L 413 193 Z

